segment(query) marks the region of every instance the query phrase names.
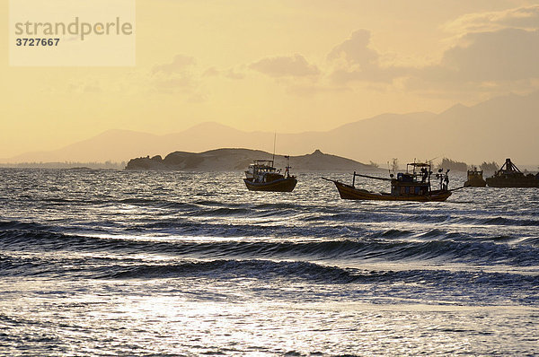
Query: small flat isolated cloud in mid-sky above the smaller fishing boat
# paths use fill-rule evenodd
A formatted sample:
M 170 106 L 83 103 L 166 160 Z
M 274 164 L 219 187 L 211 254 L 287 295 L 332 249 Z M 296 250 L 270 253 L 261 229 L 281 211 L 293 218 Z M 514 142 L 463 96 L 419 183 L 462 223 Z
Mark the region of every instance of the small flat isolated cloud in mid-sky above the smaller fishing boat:
M 316 65 L 310 65 L 301 55 L 267 57 L 249 65 L 254 71 L 270 77 L 306 77 L 320 74 Z

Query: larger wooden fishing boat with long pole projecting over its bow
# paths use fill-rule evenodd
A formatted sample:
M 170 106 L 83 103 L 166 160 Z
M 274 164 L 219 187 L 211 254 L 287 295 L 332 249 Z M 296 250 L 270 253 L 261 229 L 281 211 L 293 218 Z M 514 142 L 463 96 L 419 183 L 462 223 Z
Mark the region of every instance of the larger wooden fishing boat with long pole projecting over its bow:
M 436 179 L 439 180 L 439 189 L 433 190 L 430 185 L 432 175 L 429 163 L 413 162 L 406 165 L 406 172 L 390 174 L 390 179 L 376 176 L 361 175 L 354 171 L 352 185 L 342 183 L 334 179 L 326 179 L 335 184 L 339 190 L 340 198 L 352 200 L 377 200 L 377 201 L 416 201 L 416 202 L 443 202 L 451 196 L 451 190 L 447 189 L 449 177 L 443 170 L 438 170 Z M 379 179 L 391 182 L 391 193 L 372 192 L 356 187 L 356 177 L 367 179 Z M 325 178 L 323 178 L 325 179 Z

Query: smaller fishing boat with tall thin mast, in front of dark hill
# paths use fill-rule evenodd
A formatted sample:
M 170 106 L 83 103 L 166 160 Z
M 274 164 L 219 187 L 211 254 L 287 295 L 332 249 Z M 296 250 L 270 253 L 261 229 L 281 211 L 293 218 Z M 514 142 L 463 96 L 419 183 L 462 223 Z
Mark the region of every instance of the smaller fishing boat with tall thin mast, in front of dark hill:
M 245 186 L 250 191 L 292 192 L 296 187 L 296 176 L 290 175 L 290 157 L 284 174 L 274 167 L 274 160 L 255 160 L 245 171 Z

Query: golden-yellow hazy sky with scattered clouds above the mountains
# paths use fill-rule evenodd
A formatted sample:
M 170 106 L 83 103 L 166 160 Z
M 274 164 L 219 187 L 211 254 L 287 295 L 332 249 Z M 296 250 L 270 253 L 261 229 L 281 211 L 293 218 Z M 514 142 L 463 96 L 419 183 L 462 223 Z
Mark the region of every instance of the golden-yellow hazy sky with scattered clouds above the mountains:
M 20 67 L 0 26 L 0 158 L 109 129 L 327 131 L 539 90 L 539 1 L 137 0 L 135 34 L 135 66 Z

